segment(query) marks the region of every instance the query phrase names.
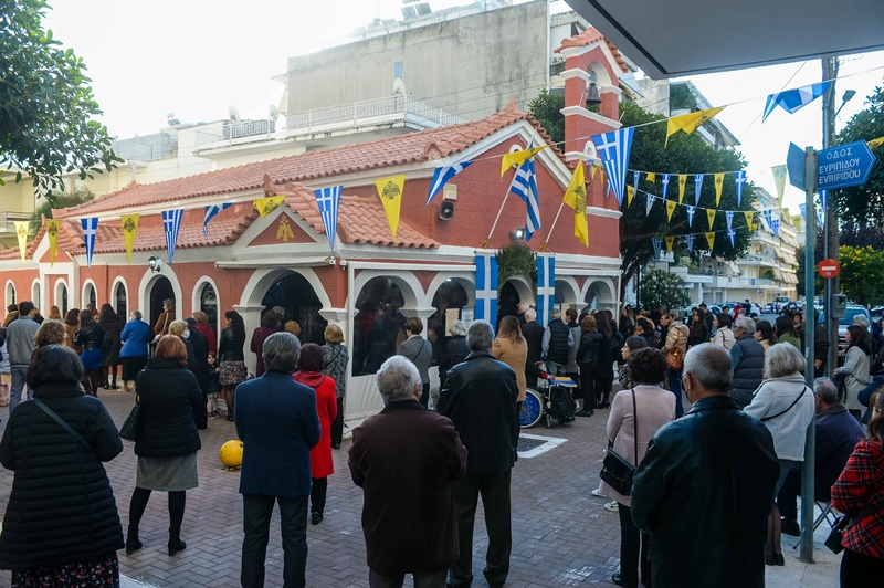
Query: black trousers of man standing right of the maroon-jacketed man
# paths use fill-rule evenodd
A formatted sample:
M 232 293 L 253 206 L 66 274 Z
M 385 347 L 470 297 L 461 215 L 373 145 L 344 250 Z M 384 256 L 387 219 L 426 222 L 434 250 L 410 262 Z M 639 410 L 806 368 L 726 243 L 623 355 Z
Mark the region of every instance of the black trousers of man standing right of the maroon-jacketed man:
M 499 473 L 466 474 L 451 486 L 454 515 L 457 517 L 457 542 L 461 555 L 449 569 L 452 588 L 469 587 L 473 582 L 473 526 L 476 519 L 478 496 L 485 508 L 485 528 L 488 532 L 488 550 L 485 555 L 485 579 L 492 588 L 502 587 L 509 575 L 509 553 L 513 549 L 513 529 L 509 512 L 509 481 L 512 470 Z

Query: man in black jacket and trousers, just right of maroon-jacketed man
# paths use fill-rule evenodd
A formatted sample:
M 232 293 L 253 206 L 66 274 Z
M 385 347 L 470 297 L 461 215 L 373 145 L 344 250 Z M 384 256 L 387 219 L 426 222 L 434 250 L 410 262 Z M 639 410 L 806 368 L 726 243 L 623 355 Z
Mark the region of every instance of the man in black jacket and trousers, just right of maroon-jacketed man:
M 519 433 L 518 384 L 515 371 L 492 356 L 493 338 L 488 323 L 470 325 L 466 345 L 471 353 L 449 370 L 448 385 L 439 397 L 440 411 L 454 422 L 470 451 L 466 475 L 452 486 L 460 545 L 460 557 L 449 570 L 453 588 L 466 588 L 473 581 L 473 526 L 480 494 L 488 532 L 485 579 L 502 587 L 509 574 L 509 483 Z

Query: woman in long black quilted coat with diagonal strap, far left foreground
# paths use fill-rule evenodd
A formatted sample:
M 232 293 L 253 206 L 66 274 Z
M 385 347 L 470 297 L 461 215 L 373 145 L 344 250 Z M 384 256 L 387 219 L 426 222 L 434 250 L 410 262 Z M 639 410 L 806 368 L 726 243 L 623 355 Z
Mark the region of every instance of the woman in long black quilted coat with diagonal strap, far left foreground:
M 28 368 L 34 401 L 22 402 L 3 431 L 0 463 L 14 479 L 0 568 L 12 570 L 12 586 L 62 586 L 72 577 L 91 578 L 91 586 L 119 585 L 123 528 L 102 462 L 119 455 L 123 442 L 104 405 L 83 393 L 82 377 L 73 350 L 36 349 Z

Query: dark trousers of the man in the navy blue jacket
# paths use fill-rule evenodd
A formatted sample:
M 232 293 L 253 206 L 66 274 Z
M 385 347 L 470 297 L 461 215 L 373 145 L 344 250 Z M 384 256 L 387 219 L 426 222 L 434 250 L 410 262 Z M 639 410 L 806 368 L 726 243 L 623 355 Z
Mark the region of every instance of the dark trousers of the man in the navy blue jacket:
M 263 494 L 243 494 L 242 527 L 245 537 L 242 542 L 242 571 L 240 580 L 243 588 L 263 588 L 264 560 L 270 540 L 270 519 L 273 504 L 280 503 L 280 518 L 283 536 L 283 586 L 284 588 L 305 588 L 307 585 L 307 496 L 283 498 Z

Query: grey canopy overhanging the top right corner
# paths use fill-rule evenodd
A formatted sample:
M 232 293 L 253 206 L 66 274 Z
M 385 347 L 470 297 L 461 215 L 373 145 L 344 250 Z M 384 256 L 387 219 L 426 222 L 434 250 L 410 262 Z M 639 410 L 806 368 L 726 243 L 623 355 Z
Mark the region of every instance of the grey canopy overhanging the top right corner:
M 661 80 L 884 50 L 882 0 L 566 0 Z

